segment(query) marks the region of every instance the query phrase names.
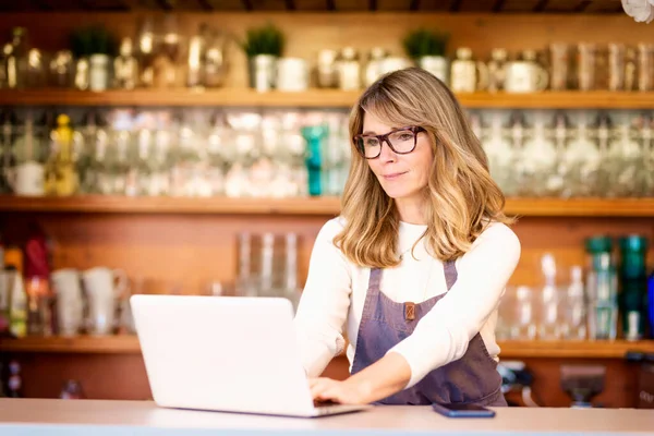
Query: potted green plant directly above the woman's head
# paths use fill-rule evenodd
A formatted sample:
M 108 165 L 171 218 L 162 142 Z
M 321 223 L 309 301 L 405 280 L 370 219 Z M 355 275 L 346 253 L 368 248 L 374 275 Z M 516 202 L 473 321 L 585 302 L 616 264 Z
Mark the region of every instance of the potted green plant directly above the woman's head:
M 404 51 L 415 63 L 448 83 L 448 61 L 445 56 L 449 35 L 419 28 L 410 32 L 403 39 Z

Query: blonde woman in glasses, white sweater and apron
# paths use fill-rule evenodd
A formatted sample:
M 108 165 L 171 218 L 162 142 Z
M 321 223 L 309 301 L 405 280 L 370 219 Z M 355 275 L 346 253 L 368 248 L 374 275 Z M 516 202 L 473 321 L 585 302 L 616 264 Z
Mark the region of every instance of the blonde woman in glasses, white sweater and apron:
M 295 325 L 317 401 L 506 405 L 497 306 L 520 257 L 455 96 L 407 69 L 350 117 L 342 214 L 316 238 Z M 344 347 L 351 376 L 318 377 Z

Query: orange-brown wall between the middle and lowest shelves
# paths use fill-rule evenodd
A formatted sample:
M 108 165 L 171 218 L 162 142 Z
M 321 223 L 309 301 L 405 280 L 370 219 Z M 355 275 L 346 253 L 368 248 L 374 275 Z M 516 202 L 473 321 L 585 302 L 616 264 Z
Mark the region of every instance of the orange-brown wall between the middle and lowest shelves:
M 3 213 L 5 238 L 21 242 L 27 223 L 38 222 L 53 241 L 53 267 L 80 269 L 104 265 L 124 268 L 138 280 L 157 279 L 149 291 L 198 293 L 210 280 L 228 288 L 237 277 L 238 234 L 294 231 L 299 235 L 299 283 L 306 279 L 311 251 L 329 215 L 185 215 Z M 540 258 L 553 253 L 559 278 L 585 265 L 584 239 L 629 233 L 654 241 L 654 220 L 620 217 L 523 217 L 514 226 L 522 255 L 510 284 L 541 284 Z M 501 255 L 501 253 L 499 254 Z M 654 261 L 654 247 L 649 253 Z

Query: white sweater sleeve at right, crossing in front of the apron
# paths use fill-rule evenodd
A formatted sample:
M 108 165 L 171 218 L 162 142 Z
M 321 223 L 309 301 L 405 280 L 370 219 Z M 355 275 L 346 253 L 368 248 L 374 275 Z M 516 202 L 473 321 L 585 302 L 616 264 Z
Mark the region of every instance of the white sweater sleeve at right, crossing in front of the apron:
M 520 241 L 507 226 L 494 223 L 457 264 L 452 288 L 417 323 L 411 336 L 388 352 L 411 367 L 407 388 L 431 371 L 463 356 L 470 340 L 497 310 L 520 258 Z

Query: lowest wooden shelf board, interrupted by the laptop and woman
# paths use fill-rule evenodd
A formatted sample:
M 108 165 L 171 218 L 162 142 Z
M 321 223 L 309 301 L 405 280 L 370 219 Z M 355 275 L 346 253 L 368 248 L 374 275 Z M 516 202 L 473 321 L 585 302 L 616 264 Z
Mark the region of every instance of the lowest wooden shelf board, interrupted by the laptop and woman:
M 502 360 L 526 358 L 623 359 L 627 352 L 654 353 L 654 340 L 616 341 L 500 341 Z M 136 336 L 78 336 L 72 338 L 0 339 L 0 352 L 140 353 Z

